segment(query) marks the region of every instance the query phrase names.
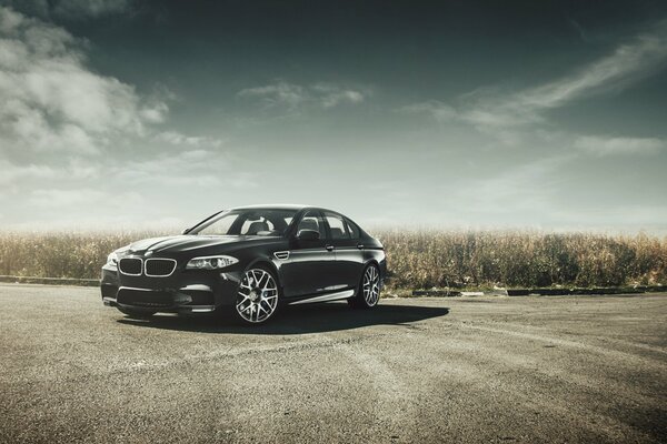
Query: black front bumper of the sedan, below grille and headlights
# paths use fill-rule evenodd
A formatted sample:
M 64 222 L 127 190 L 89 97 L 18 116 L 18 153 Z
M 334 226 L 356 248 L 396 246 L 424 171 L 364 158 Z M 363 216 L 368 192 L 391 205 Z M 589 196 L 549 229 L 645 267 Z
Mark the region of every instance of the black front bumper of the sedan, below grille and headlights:
M 108 306 L 168 313 L 206 313 L 232 305 L 241 272 L 177 271 L 167 278 L 130 276 L 102 268 L 100 291 Z

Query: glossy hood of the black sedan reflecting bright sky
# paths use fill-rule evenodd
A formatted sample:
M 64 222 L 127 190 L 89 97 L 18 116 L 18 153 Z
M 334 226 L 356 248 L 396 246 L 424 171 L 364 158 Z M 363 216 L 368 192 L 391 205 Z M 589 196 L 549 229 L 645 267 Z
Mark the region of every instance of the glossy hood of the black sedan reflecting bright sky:
M 278 240 L 279 238 L 242 235 L 175 235 L 133 242 L 129 245 L 129 252 L 142 254 L 150 250 L 153 253 L 186 253 L 218 245 L 226 245 L 233 250 L 239 246 L 255 245 L 267 241 L 276 242 Z

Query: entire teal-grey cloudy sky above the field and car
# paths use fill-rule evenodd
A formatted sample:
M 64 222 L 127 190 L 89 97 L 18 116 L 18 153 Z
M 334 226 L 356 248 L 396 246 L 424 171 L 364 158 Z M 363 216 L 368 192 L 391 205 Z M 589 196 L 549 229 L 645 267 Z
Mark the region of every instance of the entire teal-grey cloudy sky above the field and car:
M 665 1 L 0 0 L 0 230 L 666 234 L 666 191 Z

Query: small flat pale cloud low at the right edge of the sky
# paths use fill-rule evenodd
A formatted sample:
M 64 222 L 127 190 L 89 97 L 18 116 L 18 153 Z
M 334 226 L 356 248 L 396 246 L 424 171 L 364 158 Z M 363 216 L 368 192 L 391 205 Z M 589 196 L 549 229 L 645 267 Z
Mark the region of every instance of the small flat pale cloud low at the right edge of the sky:
M 575 140 L 574 147 L 598 157 L 657 154 L 667 150 L 667 141 L 655 138 L 604 138 L 588 135 Z

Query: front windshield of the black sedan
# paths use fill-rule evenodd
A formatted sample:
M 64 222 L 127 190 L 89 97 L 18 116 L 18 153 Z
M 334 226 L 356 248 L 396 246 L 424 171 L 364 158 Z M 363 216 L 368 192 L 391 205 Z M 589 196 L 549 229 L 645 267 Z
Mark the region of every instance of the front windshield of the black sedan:
M 296 214 L 296 210 L 229 210 L 205 220 L 188 234 L 282 235 Z

